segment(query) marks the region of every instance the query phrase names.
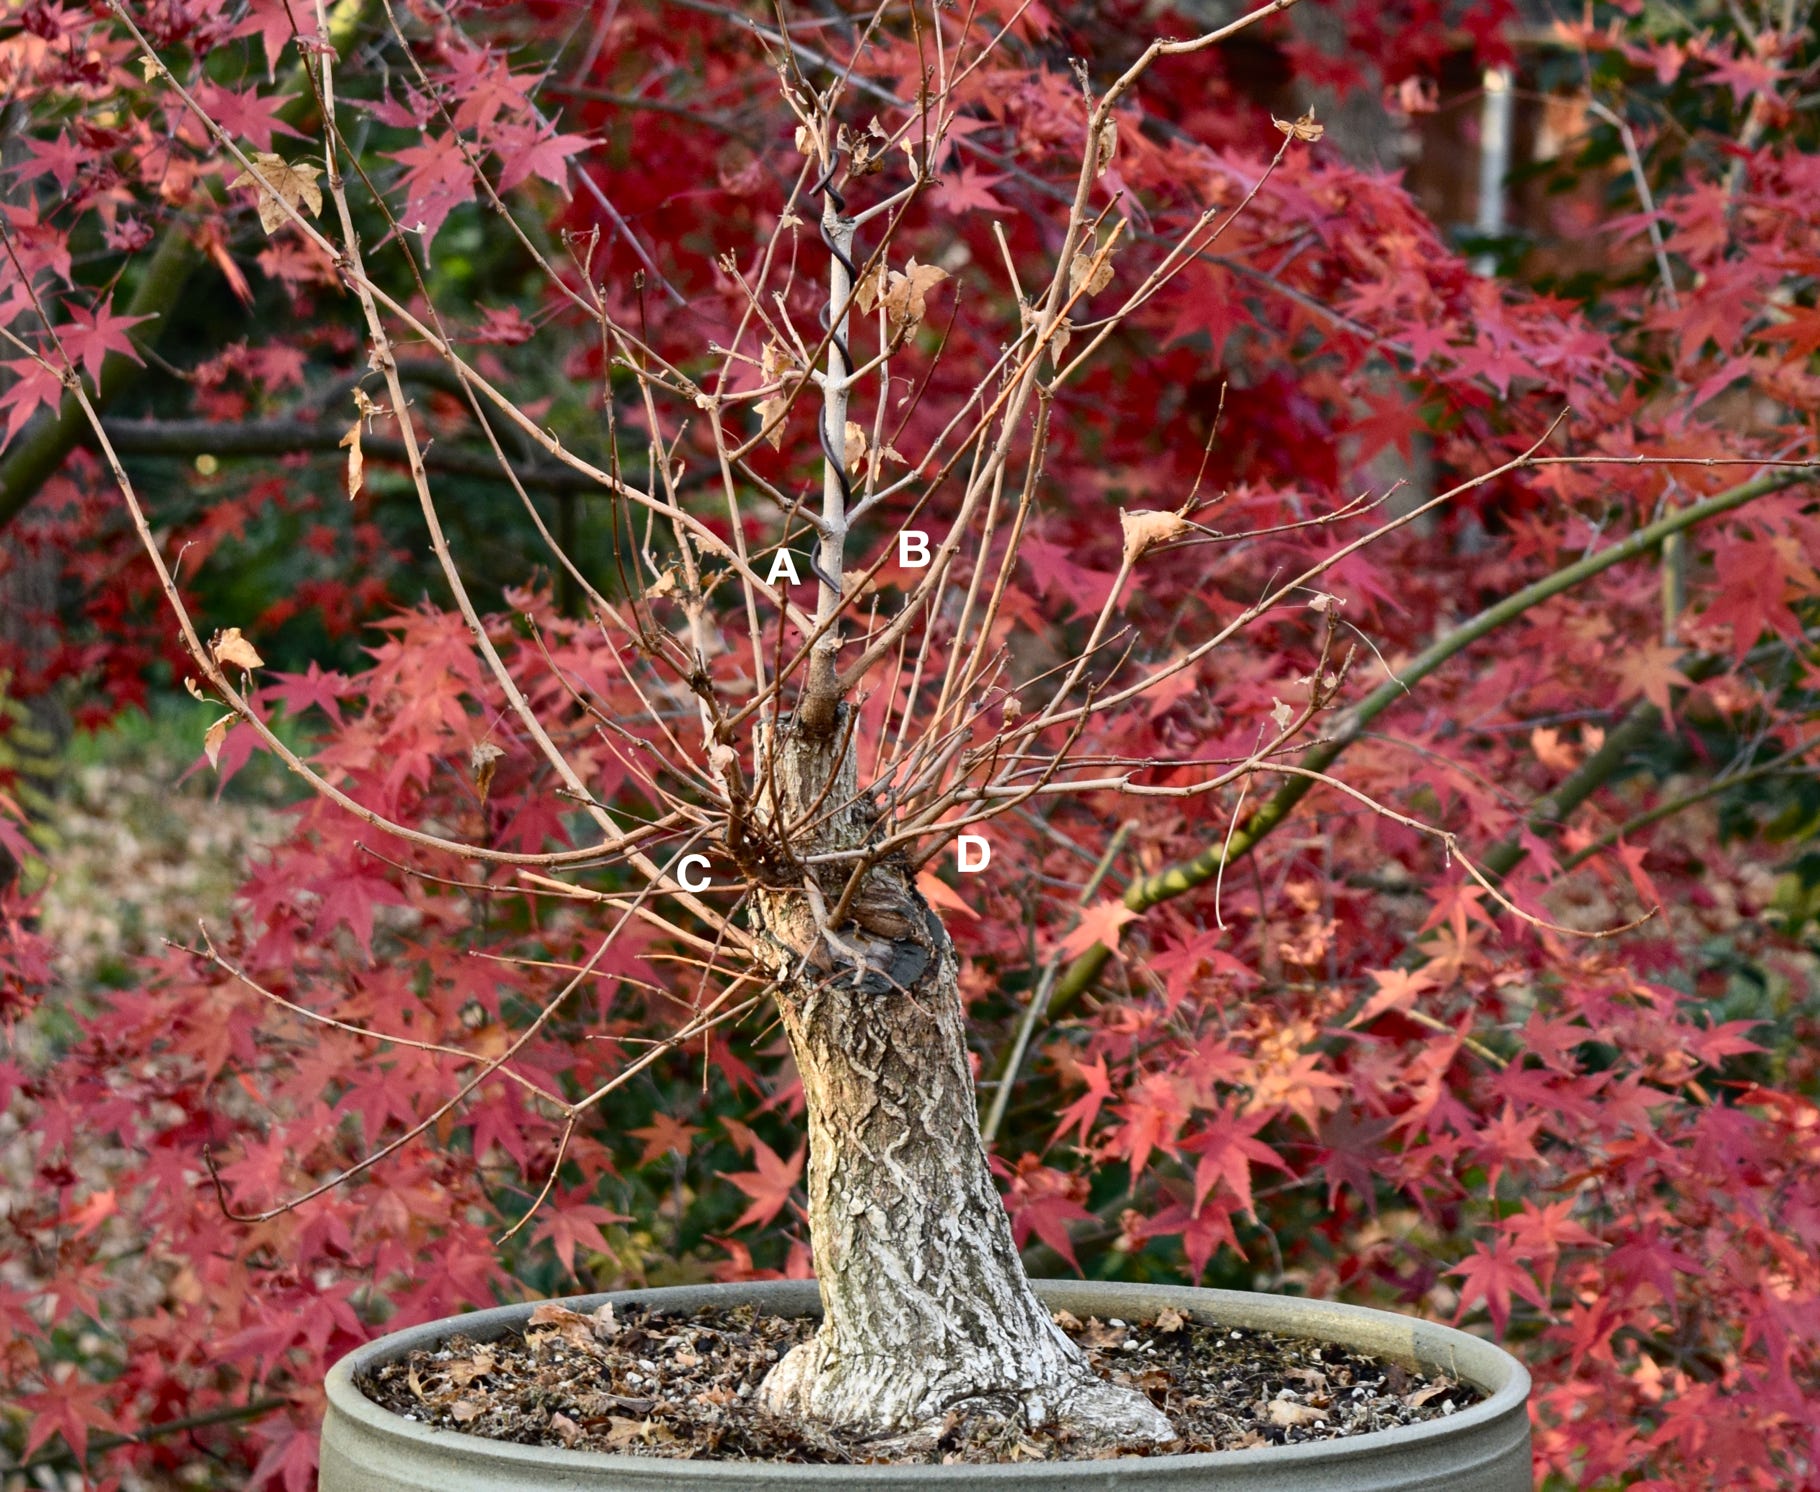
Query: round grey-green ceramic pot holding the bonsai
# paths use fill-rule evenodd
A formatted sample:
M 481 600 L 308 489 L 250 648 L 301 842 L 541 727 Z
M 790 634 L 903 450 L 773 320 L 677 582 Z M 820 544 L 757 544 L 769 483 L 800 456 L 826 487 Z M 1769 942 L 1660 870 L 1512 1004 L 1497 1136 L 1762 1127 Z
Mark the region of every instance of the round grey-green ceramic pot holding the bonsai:
M 510 1445 L 431 1430 L 380 1408 L 355 1376 L 457 1332 L 491 1341 L 521 1326 L 530 1305 L 480 1310 L 393 1332 L 342 1357 L 328 1376 L 322 1492 L 733 1492 L 808 1487 L 819 1492 L 1534 1492 L 1529 1456 L 1529 1374 L 1480 1337 L 1385 1310 L 1161 1285 L 1036 1281 L 1052 1310 L 1136 1321 L 1174 1306 L 1208 1325 L 1312 1337 L 1354 1352 L 1443 1372 L 1485 1399 L 1443 1419 L 1369 1436 L 1205 1456 L 1117 1461 L 1025 1461 L 1003 1467 L 801 1467 L 764 1461 L 661 1461 Z M 821 1316 L 814 1281 L 628 1290 L 562 1301 L 588 1312 L 604 1301 L 690 1312 L 755 1305 L 777 1316 Z

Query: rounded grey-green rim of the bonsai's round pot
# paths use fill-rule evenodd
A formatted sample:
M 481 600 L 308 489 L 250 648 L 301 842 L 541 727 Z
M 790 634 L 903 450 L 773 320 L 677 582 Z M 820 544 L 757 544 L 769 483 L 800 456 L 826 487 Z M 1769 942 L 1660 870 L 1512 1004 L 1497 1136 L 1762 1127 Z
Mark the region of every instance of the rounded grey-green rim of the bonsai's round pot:
M 1409 1330 L 1410 1339 L 1418 1336 L 1423 1339 L 1423 1357 L 1434 1363 L 1440 1352 L 1449 1356 L 1465 1352 L 1469 1359 L 1480 1359 L 1478 1366 L 1481 1372 L 1461 1372 L 1458 1365 L 1449 1370 L 1461 1381 L 1472 1383 L 1487 1397 L 1476 1405 L 1471 1405 L 1456 1414 L 1425 1419 L 1416 1425 L 1394 1425 L 1389 1430 L 1370 1430 L 1361 1436 L 1340 1436 L 1325 1441 L 1303 1441 L 1301 1445 L 1272 1445 L 1272 1447 L 1252 1447 L 1247 1450 L 1199 1450 L 1185 1452 L 1178 1456 L 1143 1456 L 1143 1457 L 1117 1457 L 1110 1465 L 1121 1468 L 1138 1468 L 1145 1465 L 1170 1467 L 1170 1468 L 1208 1468 L 1221 1472 L 1238 1472 L 1250 1468 L 1294 1468 L 1303 1467 L 1314 1470 L 1318 1467 L 1340 1463 L 1343 1459 L 1387 1454 L 1405 1448 L 1414 1448 L 1425 1445 L 1432 1439 L 1441 1437 L 1467 1437 L 1476 1428 L 1489 1428 L 1494 1421 L 1511 1417 L 1512 1414 L 1522 1414 L 1527 1425 L 1527 1399 L 1531 1392 L 1529 1370 L 1509 1352 L 1505 1352 L 1496 1343 L 1485 1341 L 1483 1337 L 1474 1337 L 1454 1326 L 1445 1326 L 1438 1321 L 1427 1321 L 1420 1316 L 1401 1316 L 1390 1310 L 1378 1310 L 1374 1306 L 1356 1306 L 1343 1305 L 1340 1301 L 1318 1301 L 1305 1295 L 1274 1295 L 1263 1292 L 1249 1290 L 1203 1290 L 1185 1285 L 1138 1285 L 1127 1281 L 1097 1281 L 1097 1279 L 1034 1279 L 1032 1285 L 1037 1288 L 1037 1297 L 1045 1305 L 1052 1305 L 1050 1295 L 1068 1297 L 1076 1292 L 1081 1294 L 1101 1294 L 1107 1290 L 1128 1292 L 1134 1297 L 1134 1305 L 1139 1301 L 1147 1308 L 1158 1308 L 1161 1305 L 1174 1305 L 1176 1308 L 1190 1308 L 1196 1317 L 1207 1317 L 1208 1325 L 1225 1323 L 1241 1326 L 1245 1330 L 1274 1330 L 1283 1336 L 1309 1336 L 1316 1339 L 1327 1339 L 1332 1334 L 1332 1325 L 1338 1319 L 1356 1321 L 1360 1326 L 1385 1323 L 1398 1323 L 1401 1328 Z M 766 1308 L 777 1310 L 777 1314 L 801 1314 L 801 1316 L 819 1316 L 821 1294 L 814 1279 L 784 1279 L 784 1281 L 741 1281 L 732 1285 L 677 1285 L 661 1286 L 653 1290 L 602 1290 L 588 1295 L 561 1295 L 548 1301 L 548 1305 L 568 1306 L 570 1310 L 590 1312 L 601 1305 L 653 1305 L 668 1306 L 673 1310 L 692 1310 L 701 1305 L 710 1305 L 715 1299 L 732 1301 L 741 1294 L 748 1294 L 753 1286 L 761 1288 L 763 1294 L 770 1295 L 770 1305 Z M 779 1299 L 779 1295 L 783 1299 Z M 497 1457 L 508 1465 L 515 1463 L 526 1470 L 573 1470 L 573 1472 L 632 1472 L 637 1470 L 644 1477 L 664 1476 L 668 1468 L 673 1468 L 675 1476 L 690 1476 L 706 1481 L 753 1481 L 763 1476 L 788 1474 L 792 1479 L 801 1481 L 850 1481 L 855 1474 L 868 1474 L 872 1470 L 879 1472 L 914 1472 L 919 1479 L 928 1479 L 935 1483 L 961 1483 L 968 1479 L 977 1479 L 983 1474 L 994 1479 L 1005 1481 L 1037 1481 L 1054 1479 L 1056 1468 L 1061 1465 L 1079 1465 L 1083 1468 L 1092 1467 L 1101 1470 L 1107 1463 L 1099 1461 L 1079 1461 L 1079 1463 L 1061 1463 L 1061 1461 L 999 1461 L 999 1463 L 965 1463 L 965 1465 L 804 1465 L 794 1461 L 715 1461 L 715 1459 L 684 1459 L 684 1457 L 659 1457 L 659 1456 L 619 1456 L 604 1450 L 566 1450 L 562 1447 L 544 1447 L 544 1445 L 521 1445 L 517 1441 L 497 1441 L 486 1436 L 470 1436 L 462 1430 L 444 1430 L 430 1425 L 420 1425 L 413 1419 L 404 1419 L 393 1414 L 389 1408 L 377 1405 L 373 1399 L 366 1397 L 355 1385 L 355 1374 L 368 1368 L 388 1363 L 395 1357 L 404 1356 L 419 1348 L 433 1348 L 451 1336 L 470 1336 L 479 1341 L 491 1341 L 502 1336 L 506 1330 L 513 1328 L 519 1321 L 530 1316 L 539 1305 L 546 1301 L 526 1301 L 522 1305 L 504 1305 L 490 1306 L 486 1310 L 475 1310 L 466 1316 L 444 1316 L 437 1321 L 424 1321 L 417 1326 L 406 1326 L 399 1332 L 388 1332 L 382 1337 L 375 1337 L 364 1346 L 357 1346 L 353 1352 L 342 1356 L 328 1372 L 324 1379 L 326 1399 L 331 1414 L 346 1416 L 348 1419 L 359 1423 L 364 1430 L 406 1441 L 413 1447 L 420 1447 L 430 1454 L 459 1454 L 466 1457 L 488 1456 Z M 799 1308 L 801 1306 L 801 1308 Z M 1056 1303 L 1056 1308 L 1068 1308 Z M 1272 1317 L 1270 1321 L 1259 1321 L 1259 1317 Z M 1340 1345 L 1340 1337 L 1332 1337 Z M 1374 1356 L 1405 1361 L 1416 1357 L 1414 1348 L 1396 1350 L 1396 1348 L 1358 1348 L 1370 1350 Z M 1481 1383 L 1481 1377 L 1496 1376 L 1496 1370 L 1503 1370 L 1503 1383 L 1500 1386 L 1491 1386 Z

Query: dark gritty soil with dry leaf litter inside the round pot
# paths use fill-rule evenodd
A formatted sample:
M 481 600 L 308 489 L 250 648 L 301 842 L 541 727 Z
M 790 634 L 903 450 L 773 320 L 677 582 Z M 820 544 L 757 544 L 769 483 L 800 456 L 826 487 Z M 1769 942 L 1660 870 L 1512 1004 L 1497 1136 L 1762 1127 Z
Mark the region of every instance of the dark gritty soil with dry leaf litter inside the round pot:
M 1163 1310 L 1150 1321 L 1057 1312 L 1094 1368 L 1148 1394 L 1176 1425 L 1170 1454 L 1358 1436 L 1454 1414 L 1483 1396 L 1332 1343 L 1241 1332 Z M 541 1305 L 522 1336 L 451 1336 L 360 1379 L 393 1414 L 521 1445 L 721 1461 L 1063 1461 L 1128 1452 L 1070 1445 L 990 1410 L 939 1434 L 881 1441 L 761 1412 L 772 1365 L 815 1323 L 753 1306 L 688 1316 Z

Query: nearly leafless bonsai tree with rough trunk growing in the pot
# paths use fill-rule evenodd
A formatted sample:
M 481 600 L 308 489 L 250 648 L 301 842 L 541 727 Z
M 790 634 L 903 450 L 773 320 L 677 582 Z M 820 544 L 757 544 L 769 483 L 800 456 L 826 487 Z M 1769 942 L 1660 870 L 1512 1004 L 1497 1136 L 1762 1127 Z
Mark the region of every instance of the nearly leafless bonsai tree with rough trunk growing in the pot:
M 368 271 L 348 180 L 353 158 L 335 107 L 333 47 L 311 49 L 308 66 L 322 111 L 320 166 L 244 149 L 169 75 L 195 124 L 242 166 L 233 186 L 255 193 L 268 229 L 302 235 L 328 255 L 359 302 L 371 373 L 360 378 L 353 369 L 349 495 L 362 480 L 364 429 L 393 422 L 442 575 L 515 728 L 593 821 L 593 841 L 564 862 L 621 864 L 642 882 L 602 902 L 615 926 L 642 917 L 708 955 L 706 972 L 723 992 L 704 1012 L 755 984 L 777 1003 L 803 1084 L 808 1226 L 824 1306 L 815 1339 L 766 1381 L 764 1401 L 779 1414 L 917 1432 L 956 1406 L 992 1405 L 1088 1439 L 1174 1439 L 1147 1399 L 1088 1368 L 1030 1290 L 979 1139 L 959 959 L 917 872 L 963 833 L 990 855 L 979 830 L 1041 795 L 1188 797 L 1239 782 L 1283 751 L 1340 684 L 1341 673 L 1330 670 L 1343 666 L 1323 650 L 1307 704 L 1285 708 L 1243 762 L 1187 786 L 1147 781 L 1172 764 L 1085 750 L 1096 744 L 1099 717 L 1141 701 L 1218 646 L 1216 633 L 1154 655 L 1117 626 L 1147 551 L 1205 533 L 1190 519 L 1196 495 L 1174 509 L 1121 509 L 1119 573 L 1074 657 L 1030 666 L 999 628 L 1019 540 L 1045 500 L 1054 400 L 1132 311 L 1205 251 L 1227 217 L 1207 209 L 1163 238 L 1134 284 L 1114 286 L 1128 220 L 1117 213 L 1123 193 L 1101 184 L 1117 153 L 1119 104 L 1158 58 L 1205 51 L 1279 9 L 1287 0 L 1194 40 L 1156 42 L 1099 91 L 1083 75 L 1083 149 L 1072 195 L 1057 207 L 1059 247 L 1034 271 L 1041 278 L 1030 289 L 1006 249 L 1001 289 L 1010 291 L 1017 326 L 986 377 L 963 380 L 957 397 L 943 389 L 946 398 L 914 400 L 912 391 L 926 388 L 939 364 L 939 348 L 921 348 L 919 333 L 950 271 L 895 249 L 897 226 L 950 153 L 957 89 L 992 62 L 990 49 L 974 51 L 974 36 L 961 33 L 948 56 L 943 27 L 923 38 L 921 18 L 906 15 L 912 36 L 934 47 L 930 82 L 915 107 L 899 107 L 886 126 L 857 100 L 852 60 L 823 64 L 824 76 L 812 78 L 788 33 L 777 35 L 772 60 L 803 164 L 768 237 L 752 247 L 753 267 L 741 267 L 743 255 L 723 260 L 744 304 L 721 337 L 690 349 L 692 358 L 652 346 L 592 278 L 592 235 L 571 235 L 564 266 L 544 257 L 499 197 L 500 186 L 524 176 L 521 164 L 488 173 L 462 136 L 450 135 L 504 231 L 521 235 L 526 255 L 597 328 L 608 429 L 595 459 L 564 448 L 495 389 L 462 357 L 439 307 L 391 295 Z M 120 20 L 146 67 L 166 67 L 138 22 L 126 11 Z M 415 58 L 413 38 L 393 24 L 402 55 Z M 315 31 L 331 29 L 328 5 L 318 4 Z M 870 29 L 863 44 L 872 44 Z M 457 126 L 455 100 L 422 67 L 413 75 L 424 107 Z M 1285 126 L 1272 164 L 1320 133 L 1312 118 Z M 402 213 L 384 193 L 371 206 L 400 246 L 428 229 L 415 198 Z M 328 215 L 324 226 L 317 209 Z M 804 315 L 803 282 L 812 277 L 819 322 Z M 621 662 L 606 695 L 590 701 L 577 691 L 575 702 L 599 717 L 602 731 L 646 750 L 662 742 L 673 753 L 661 775 L 639 773 L 650 810 L 642 822 L 602 801 L 592 773 L 557 742 L 470 597 L 424 466 L 426 435 L 408 413 L 400 337 L 444 358 L 477 422 L 515 428 L 550 460 L 597 482 L 621 513 L 624 553 L 612 580 L 590 575 L 553 535 L 544 537 Z M 704 429 L 684 444 L 690 426 Z M 759 464 L 764 446 L 781 453 L 804 428 L 814 429 L 819 493 L 790 480 L 795 462 L 770 475 Z M 228 724 L 248 722 L 318 793 L 375 821 L 260 719 L 246 682 L 262 662 L 257 644 L 238 628 L 202 637 L 98 417 L 95 431 L 177 610 L 202 679 L 195 691 L 228 710 L 211 730 L 224 739 Z M 637 459 L 624 449 L 632 439 L 642 446 Z M 684 449 L 699 453 L 706 469 L 692 469 Z M 511 462 L 502 449 L 499 457 L 502 479 L 513 482 Z M 724 522 L 704 517 L 715 509 Z M 528 497 L 526 513 L 542 528 Z M 812 577 L 812 604 L 792 593 L 803 579 L 797 553 Z M 906 562 L 917 568 L 906 573 Z M 1250 615 L 1305 593 L 1329 564 L 1285 579 Z M 892 570 L 903 590 L 885 600 L 877 580 Z M 954 617 L 948 628 L 945 611 Z M 662 702 L 684 690 L 692 719 Z M 499 750 L 475 748 L 479 782 Z M 379 826 L 424 839 L 408 824 Z M 482 844 L 439 848 L 479 861 L 551 859 L 499 855 Z M 715 861 L 721 886 L 712 879 Z M 612 939 L 602 944 L 610 946 Z M 579 1108 L 568 1108 L 573 1123 Z

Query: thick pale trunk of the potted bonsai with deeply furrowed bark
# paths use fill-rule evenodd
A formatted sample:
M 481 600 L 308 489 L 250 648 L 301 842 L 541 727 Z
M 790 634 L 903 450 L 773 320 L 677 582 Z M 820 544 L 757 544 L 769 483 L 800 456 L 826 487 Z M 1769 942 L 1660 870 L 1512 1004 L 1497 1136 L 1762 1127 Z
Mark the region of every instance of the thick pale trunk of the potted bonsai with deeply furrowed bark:
M 850 717 L 784 722 L 757 817 L 792 857 L 863 846 Z M 979 1141 L 954 944 L 908 864 L 874 866 L 841 926 L 850 862 L 814 892 L 757 897 L 808 1108 L 810 1241 L 823 1326 L 766 1377 L 790 1416 L 928 1434 L 952 1412 L 1094 1443 L 1174 1439 L 1143 1396 L 1099 1379 L 1036 1299 Z M 819 902 L 819 906 L 817 906 Z

